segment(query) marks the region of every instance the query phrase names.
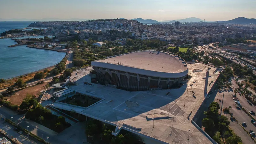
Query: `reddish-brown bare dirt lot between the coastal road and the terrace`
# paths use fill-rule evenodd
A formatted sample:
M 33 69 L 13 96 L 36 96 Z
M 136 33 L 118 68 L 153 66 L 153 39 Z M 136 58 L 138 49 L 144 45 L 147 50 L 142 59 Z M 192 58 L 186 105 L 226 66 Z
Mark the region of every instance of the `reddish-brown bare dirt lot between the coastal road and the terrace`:
M 4 97 L 4 98 L 10 99 L 9 101 L 11 101 L 12 104 L 14 105 L 20 105 L 22 103 L 22 100 L 26 97 L 27 93 L 35 95 L 36 98 L 38 98 L 39 95 L 41 94 L 40 91 L 45 90 L 47 85 L 48 83 L 43 83 L 43 84 L 31 86 L 31 87 L 22 89 L 20 91 L 17 91 L 15 92 L 15 94 L 8 97 Z

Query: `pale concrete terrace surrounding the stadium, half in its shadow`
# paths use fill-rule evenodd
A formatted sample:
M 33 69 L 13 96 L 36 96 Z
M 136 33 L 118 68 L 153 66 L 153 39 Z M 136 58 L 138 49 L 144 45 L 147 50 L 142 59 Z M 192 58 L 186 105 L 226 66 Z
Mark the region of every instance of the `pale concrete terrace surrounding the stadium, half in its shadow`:
M 187 84 L 184 81 L 184 85 L 179 89 L 140 92 L 128 92 L 100 84 L 85 85 L 84 82 L 91 82 L 90 76 L 87 75 L 89 71 L 78 70 L 79 73 L 73 72 L 71 76 L 71 79 L 76 81 L 76 85 L 70 85 L 69 88 L 104 100 L 88 108 L 78 108 L 56 102 L 50 105 L 55 108 L 75 110 L 77 113 L 105 123 L 122 126 L 122 129 L 145 138 L 145 143 L 187 144 L 188 129 L 190 129 L 189 143 L 209 144 L 212 142 L 191 123 L 204 100 L 204 77 L 209 67 L 211 68 L 207 88 L 209 91 L 213 84 L 211 82 L 216 80 L 219 72 L 213 74 L 215 68 L 201 63 L 188 64 L 188 75 L 192 78 Z M 193 73 L 193 69 L 203 71 Z M 192 91 L 195 92 L 194 97 Z M 170 95 L 166 96 L 167 92 L 170 92 Z M 174 115 L 172 115 L 173 112 Z M 147 119 L 147 116 L 166 118 L 155 118 L 153 128 L 153 120 Z

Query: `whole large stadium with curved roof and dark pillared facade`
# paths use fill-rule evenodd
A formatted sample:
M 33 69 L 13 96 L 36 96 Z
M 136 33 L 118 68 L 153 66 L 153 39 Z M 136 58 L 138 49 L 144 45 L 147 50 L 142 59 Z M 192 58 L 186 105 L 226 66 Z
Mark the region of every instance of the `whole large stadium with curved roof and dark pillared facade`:
M 187 63 L 167 51 L 142 50 L 92 61 L 96 81 L 127 91 L 180 87 L 187 77 Z

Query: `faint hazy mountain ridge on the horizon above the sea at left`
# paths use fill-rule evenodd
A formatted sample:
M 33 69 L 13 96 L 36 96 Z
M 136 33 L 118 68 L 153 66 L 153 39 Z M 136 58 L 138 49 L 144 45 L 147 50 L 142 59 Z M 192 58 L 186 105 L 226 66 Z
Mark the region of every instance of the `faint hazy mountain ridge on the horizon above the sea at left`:
M 43 18 L 43 19 L 1 19 L 0 21 L 86 21 L 90 19 L 79 19 L 79 18 L 72 18 L 72 19 L 58 19 L 58 18 Z

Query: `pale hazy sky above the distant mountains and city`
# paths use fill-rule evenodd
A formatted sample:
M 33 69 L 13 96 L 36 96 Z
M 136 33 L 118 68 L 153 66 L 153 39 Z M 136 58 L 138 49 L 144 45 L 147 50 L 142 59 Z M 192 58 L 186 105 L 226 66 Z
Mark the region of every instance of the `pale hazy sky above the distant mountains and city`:
M 0 0 L 0 18 L 256 18 L 256 0 Z

